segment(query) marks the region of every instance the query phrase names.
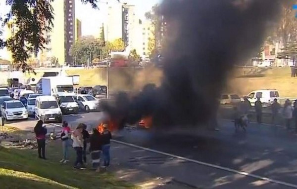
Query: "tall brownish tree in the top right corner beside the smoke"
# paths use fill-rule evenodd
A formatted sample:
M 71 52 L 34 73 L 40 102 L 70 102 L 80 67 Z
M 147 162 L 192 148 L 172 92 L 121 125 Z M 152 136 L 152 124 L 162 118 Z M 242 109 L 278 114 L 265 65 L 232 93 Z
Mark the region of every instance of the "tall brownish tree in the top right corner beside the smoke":
M 293 10 L 294 4 L 297 4 L 297 0 L 283 3 L 282 17 L 274 35 L 277 40 L 282 42 L 284 47 L 297 37 L 297 19 L 295 17 L 296 11 Z

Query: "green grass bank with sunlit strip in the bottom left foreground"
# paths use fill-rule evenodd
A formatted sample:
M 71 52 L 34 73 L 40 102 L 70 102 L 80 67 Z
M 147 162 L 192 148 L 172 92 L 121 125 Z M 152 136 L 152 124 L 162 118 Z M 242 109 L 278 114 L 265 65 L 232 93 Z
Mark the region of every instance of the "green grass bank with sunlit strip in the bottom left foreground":
M 15 132 L 15 131 L 14 131 Z M 70 149 L 70 151 L 73 151 Z M 110 173 L 74 170 L 72 163 L 60 164 L 61 144 L 47 144 L 48 160 L 37 158 L 36 150 L 0 147 L 1 189 L 133 189 Z M 71 153 L 74 157 L 74 153 Z M 72 159 L 73 162 L 73 159 Z

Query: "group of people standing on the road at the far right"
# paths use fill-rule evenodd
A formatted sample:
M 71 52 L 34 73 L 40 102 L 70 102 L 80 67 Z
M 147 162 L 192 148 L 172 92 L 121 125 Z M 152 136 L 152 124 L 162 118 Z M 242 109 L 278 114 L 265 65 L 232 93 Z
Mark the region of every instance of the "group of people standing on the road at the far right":
M 244 97 L 244 101 L 241 102 L 239 107 L 235 107 L 236 115 L 240 116 L 243 114 L 249 114 L 251 104 L 248 101 L 247 97 Z M 274 99 L 273 103 L 269 107 L 271 111 L 271 123 L 273 125 L 277 124 L 277 120 L 283 117 L 285 120 L 285 125 L 288 130 L 291 130 L 291 123 L 293 120 L 295 126 L 295 132 L 297 132 L 297 100 L 294 101 L 293 105 L 289 99 L 285 101 L 284 107 L 278 103 L 277 99 Z M 257 98 L 255 105 L 255 114 L 257 123 L 262 123 L 262 111 L 263 105 L 260 98 Z M 237 117 L 235 117 L 237 118 Z

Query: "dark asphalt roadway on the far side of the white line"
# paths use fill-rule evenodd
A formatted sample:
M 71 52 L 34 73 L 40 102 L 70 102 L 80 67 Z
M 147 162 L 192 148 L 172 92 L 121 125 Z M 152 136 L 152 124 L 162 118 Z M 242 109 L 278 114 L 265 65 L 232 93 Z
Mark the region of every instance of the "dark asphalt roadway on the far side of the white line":
M 99 117 L 100 113 L 81 113 L 64 116 L 64 120 L 72 127 L 86 123 L 90 129 L 98 124 Z M 218 132 L 172 129 L 166 134 L 156 134 L 125 129 L 115 139 L 297 185 L 295 134 L 284 127 L 253 123 L 249 124 L 247 133 L 235 133 L 232 122 L 220 120 L 219 123 Z

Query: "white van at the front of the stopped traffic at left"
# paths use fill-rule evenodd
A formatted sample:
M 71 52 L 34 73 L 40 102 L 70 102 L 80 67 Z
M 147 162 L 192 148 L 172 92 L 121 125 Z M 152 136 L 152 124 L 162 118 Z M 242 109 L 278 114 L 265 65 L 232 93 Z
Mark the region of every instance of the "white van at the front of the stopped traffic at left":
M 35 118 L 44 122 L 62 122 L 62 111 L 55 97 L 49 95 L 36 97 Z

